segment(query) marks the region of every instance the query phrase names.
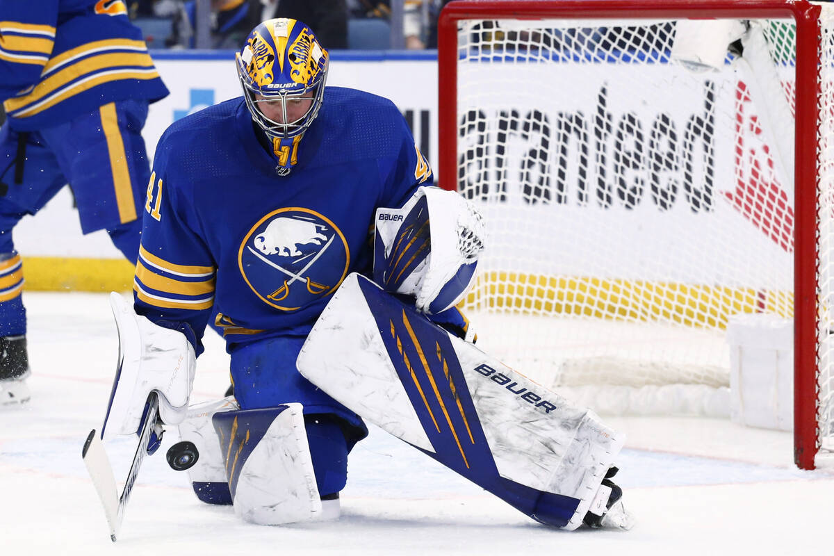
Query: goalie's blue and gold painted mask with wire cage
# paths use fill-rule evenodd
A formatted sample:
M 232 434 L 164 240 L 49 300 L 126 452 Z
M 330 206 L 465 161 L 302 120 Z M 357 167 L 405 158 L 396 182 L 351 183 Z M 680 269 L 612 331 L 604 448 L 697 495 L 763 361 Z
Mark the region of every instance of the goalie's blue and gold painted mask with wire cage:
M 304 23 L 277 18 L 249 33 L 235 61 L 249 113 L 278 158 L 276 170 L 289 173 L 304 132 L 319 114 L 329 55 Z

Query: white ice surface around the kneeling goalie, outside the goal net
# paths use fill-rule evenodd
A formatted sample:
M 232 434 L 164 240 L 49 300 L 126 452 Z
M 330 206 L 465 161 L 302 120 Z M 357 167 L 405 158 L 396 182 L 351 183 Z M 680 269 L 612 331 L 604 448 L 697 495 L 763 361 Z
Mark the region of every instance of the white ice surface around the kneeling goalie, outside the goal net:
M 0 554 L 793 554 L 831 544 L 834 473 L 800 471 L 791 433 L 704 418 L 612 418 L 629 436 L 618 483 L 629 532 L 532 522 L 413 448 L 372 429 L 354 448 L 342 518 L 262 527 L 199 503 L 163 448 L 146 458 L 118 542 L 81 461 L 113 380 L 117 339 L 104 294 L 26 293 L 31 402 L 0 408 Z M 229 385 L 207 334 L 193 402 Z M 117 478 L 133 438 L 106 448 Z

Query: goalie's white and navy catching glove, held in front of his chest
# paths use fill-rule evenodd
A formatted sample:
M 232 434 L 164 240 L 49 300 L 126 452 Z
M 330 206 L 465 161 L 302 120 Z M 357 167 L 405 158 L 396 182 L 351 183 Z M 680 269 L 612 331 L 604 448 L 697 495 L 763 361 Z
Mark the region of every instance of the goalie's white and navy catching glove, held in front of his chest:
M 424 201 L 425 208 L 419 205 Z M 412 213 L 418 205 L 424 214 Z M 414 228 L 424 226 L 430 245 L 414 249 L 420 235 Z M 474 283 L 485 242 L 484 218 L 473 203 L 455 192 L 421 187 L 403 208 L 377 209 L 374 280 L 390 291 L 413 295 L 423 313 L 441 313 L 460 302 Z

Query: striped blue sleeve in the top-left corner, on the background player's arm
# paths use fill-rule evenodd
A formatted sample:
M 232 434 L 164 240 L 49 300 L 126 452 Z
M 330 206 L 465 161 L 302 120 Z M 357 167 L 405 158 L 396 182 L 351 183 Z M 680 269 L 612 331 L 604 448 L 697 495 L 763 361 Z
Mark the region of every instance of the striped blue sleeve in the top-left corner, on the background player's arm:
M 57 25 L 58 0 L 0 0 L 0 100 L 40 81 Z

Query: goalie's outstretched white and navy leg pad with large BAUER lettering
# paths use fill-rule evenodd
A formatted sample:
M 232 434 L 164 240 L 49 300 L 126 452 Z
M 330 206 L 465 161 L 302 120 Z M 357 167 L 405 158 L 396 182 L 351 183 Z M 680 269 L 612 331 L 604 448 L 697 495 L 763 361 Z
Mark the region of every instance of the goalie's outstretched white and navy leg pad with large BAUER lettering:
M 624 437 L 358 274 L 304 343 L 331 397 L 541 523 L 631 528 L 610 477 Z

